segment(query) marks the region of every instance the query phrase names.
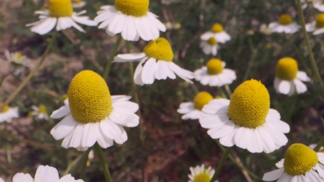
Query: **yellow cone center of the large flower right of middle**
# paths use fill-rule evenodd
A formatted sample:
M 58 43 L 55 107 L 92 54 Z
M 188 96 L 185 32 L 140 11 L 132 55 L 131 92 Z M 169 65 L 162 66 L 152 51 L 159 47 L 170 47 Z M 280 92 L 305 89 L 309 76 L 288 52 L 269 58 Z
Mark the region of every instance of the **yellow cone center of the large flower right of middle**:
M 256 128 L 265 122 L 269 108 L 267 88 L 261 81 L 251 79 L 234 90 L 227 114 L 239 126 Z

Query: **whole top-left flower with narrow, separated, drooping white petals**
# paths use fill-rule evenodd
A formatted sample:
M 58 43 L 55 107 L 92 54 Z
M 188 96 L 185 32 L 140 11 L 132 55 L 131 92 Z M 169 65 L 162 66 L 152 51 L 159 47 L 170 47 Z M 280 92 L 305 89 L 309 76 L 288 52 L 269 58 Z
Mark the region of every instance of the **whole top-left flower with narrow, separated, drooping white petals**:
M 26 26 L 30 26 L 32 32 L 41 35 L 48 33 L 55 26 L 57 31 L 74 27 L 79 31 L 86 32 L 76 23 L 97 26 L 97 22 L 89 20 L 88 16 L 80 16 L 86 12 L 87 11 L 81 11 L 79 13 L 73 12 L 71 0 L 50 0 L 48 10 L 35 11 L 35 14 L 39 15 L 39 19 L 41 20 L 29 23 Z

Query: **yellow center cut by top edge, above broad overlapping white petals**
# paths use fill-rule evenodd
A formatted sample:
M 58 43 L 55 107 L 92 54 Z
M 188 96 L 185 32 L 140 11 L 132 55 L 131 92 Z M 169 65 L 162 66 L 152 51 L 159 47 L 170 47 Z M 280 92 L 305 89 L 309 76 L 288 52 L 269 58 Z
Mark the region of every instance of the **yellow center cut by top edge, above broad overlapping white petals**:
M 149 0 L 115 0 L 115 9 L 134 17 L 147 14 Z

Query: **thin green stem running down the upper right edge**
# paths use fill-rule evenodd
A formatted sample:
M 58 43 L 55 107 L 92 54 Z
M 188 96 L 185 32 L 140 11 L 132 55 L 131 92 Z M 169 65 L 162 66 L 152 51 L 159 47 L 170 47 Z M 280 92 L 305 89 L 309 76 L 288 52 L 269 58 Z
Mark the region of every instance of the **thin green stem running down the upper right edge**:
M 320 87 L 321 87 L 322 91 L 324 92 L 324 84 L 323 84 L 323 82 L 322 82 L 322 80 L 320 78 L 320 74 L 318 72 L 318 68 L 317 68 L 317 65 L 316 65 L 316 62 L 315 62 L 314 54 L 313 54 L 312 49 L 310 47 L 310 43 L 309 43 L 307 31 L 306 31 L 306 24 L 305 24 L 305 19 L 304 19 L 304 13 L 303 13 L 303 9 L 302 9 L 301 0 L 297 0 L 297 7 L 298 7 L 299 19 L 300 19 L 300 22 L 302 24 L 302 32 L 303 32 L 303 35 L 304 35 L 304 39 L 305 39 L 305 43 L 306 43 L 306 47 L 307 47 L 307 51 L 308 51 L 308 56 L 309 56 L 309 59 L 310 59 L 310 64 L 311 64 L 312 69 L 313 69 L 313 71 L 315 73 L 316 81 L 319 82 Z

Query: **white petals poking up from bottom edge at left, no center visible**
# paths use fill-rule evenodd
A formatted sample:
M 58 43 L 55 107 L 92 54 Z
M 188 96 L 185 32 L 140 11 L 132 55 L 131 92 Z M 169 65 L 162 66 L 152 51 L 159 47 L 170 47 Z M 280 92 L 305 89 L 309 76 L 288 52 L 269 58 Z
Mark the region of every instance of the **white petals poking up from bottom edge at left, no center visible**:
M 0 178 L 1 181 L 1 178 Z M 39 166 L 36 170 L 35 174 L 35 179 L 31 177 L 30 174 L 24 174 L 22 172 L 17 173 L 13 177 L 13 182 L 33 182 L 33 181 L 38 181 L 38 182 L 84 182 L 82 179 L 77 179 L 75 180 L 74 177 L 71 176 L 71 174 L 66 174 L 63 177 L 59 177 L 59 173 L 55 167 L 50 167 L 50 166 Z

